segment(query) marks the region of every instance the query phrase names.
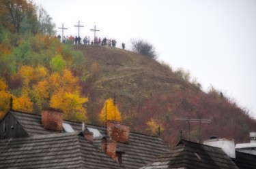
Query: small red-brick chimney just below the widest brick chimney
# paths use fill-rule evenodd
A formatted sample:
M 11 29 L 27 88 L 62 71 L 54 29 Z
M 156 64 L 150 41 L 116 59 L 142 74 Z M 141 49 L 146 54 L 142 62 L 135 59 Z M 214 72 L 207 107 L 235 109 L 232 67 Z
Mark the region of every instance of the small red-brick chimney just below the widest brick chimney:
M 106 155 L 109 155 L 112 159 L 116 159 L 117 154 L 117 142 L 115 140 L 112 140 L 110 138 L 102 138 L 102 151 L 106 153 Z

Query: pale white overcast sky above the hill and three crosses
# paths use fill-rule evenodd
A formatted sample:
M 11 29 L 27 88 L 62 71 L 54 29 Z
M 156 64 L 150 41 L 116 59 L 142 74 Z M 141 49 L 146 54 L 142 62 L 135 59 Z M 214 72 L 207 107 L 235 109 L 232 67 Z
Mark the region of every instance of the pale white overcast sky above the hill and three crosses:
M 33 0 L 53 18 L 57 35 L 132 39 L 154 45 L 158 60 L 190 72 L 256 119 L 255 0 Z

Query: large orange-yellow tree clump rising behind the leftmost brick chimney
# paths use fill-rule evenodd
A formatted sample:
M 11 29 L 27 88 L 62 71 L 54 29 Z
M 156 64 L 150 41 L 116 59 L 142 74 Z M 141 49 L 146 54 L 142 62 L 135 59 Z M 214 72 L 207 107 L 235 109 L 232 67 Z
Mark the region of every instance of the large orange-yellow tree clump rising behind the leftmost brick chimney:
M 80 94 L 79 78 L 74 77 L 71 71 L 64 70 L 61 75 L 53 73 L 49 77 L 50 107 L 61 109 L 64 118 L 73 121 L 86 121 L 87 109 L 85 103 L 88 98 Z

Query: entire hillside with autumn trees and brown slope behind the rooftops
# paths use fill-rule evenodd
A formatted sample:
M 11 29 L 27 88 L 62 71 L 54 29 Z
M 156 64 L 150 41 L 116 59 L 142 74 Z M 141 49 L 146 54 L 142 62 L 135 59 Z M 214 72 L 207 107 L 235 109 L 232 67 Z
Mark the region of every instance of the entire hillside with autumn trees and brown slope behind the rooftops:
M 236 143 L 255 132 L 246 109 L 214 88 L 201 91 L 186 73 L 118 48 L 62 44 L 54 25 L 41 21 L 31 2 L 0 3 L 0 119 L 9 109 L 40 114 L 46 107 L 98 125 L 106 115 L 132 131 L 160 135 L 169 146 L 180 130 L 194 141 L 216 135 Z M 188 130 L 188 121 L 176 120 L 188 117 L 211 123 L 201 124 L 200 132 L 199 123 L 191 122 Z

